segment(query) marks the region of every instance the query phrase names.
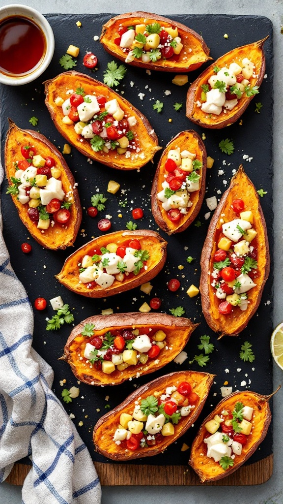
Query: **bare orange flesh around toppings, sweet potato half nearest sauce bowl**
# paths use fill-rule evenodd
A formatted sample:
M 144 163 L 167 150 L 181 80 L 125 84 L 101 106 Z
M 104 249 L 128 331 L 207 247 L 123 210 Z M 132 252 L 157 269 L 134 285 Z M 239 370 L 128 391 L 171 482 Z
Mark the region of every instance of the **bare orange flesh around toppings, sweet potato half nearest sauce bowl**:
M 131 157 L 126 158 L 125 154 L 118 155 L 117 150 L 109 150 L 108 153 L 103 151 L 95 152 L 89 140 L 84 139 L 75 132 L 74 125 L 67 125 L 62 122 L 62 107 L 57 106 L 54 100 L 57 97 L 66 100 L 69 98 L 69 94 L 66 94 L 66 92 L 70 89 L 76 90 L 78 87 L 83 88 L 86 94 L 103 95 L 107 101 L 116 98 L 125 114 L 136 118 L 137 122 L 131 130 L 136 134 L 138 140 L 137 147 L 140 149 L 138 155 L 131 154 Z M 161 147 L 158 147 L 157 136 L 144 114 L 140 113 L 127 100 L 115 93 L 108 86 L 85 74 L 74 71 L 59 74 L 54 79 L 45 82 L 45 93 L 45 104 L 59 133 L 70 144 L 74 145 L 78 151 L 95 161 L 118 170 L 136 170 L 144 166 L 148 161 L 151 161 L 156 151 L 161 149 Z M 101 107 L 101 111 L 104 111 L 103 107 Z

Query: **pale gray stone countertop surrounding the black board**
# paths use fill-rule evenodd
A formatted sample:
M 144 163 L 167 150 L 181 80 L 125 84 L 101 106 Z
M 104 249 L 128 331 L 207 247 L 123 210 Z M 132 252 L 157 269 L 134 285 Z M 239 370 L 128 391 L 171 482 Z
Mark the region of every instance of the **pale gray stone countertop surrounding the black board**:
M 0 7 L 13 2 L 0 0 Z M 42 14 L 49 13 L 72 13 L 72 14 L 99 14 L 99 13 L 124 13 L 135 10 L 154 12 L 162 15 L 174 14 L 240 14 L 266 16 L 273 24 L 273 51 L 274 51 L 274 183 L 273 183 L 273 212 L 274 212 L 274 300 L 273 300 L 273 321 L 274 327 L 283 321 L 283 169 L 282 169 L 282 130 L 283 114 L 281 96 L 278 90 L 283 90 L 283 35 L 280 33 L 283 24 L 283 9 L 281 0 L 176 0 L 172 6 L 168 0 L 144 0 L 142 3 L 130 2 L 129 0 L 112 0 L 111 4 L 102 0 L 84 0 L 84 2 L 74 2 L 74 0 L 28 0 L 27 2 L 17 1 L 17 4 L 29 5 L 39 10 Z M 280 97 L 280 98 L 279 98 Z M 283 371 L 274 364 L 273 384 L 274 389 L 283 382 Z M 171 504 L 177 500 L 179 504 L 218 504 L 225 502 L 243 502 L 244 504 L 282 504 L 283 502 L 283 401 L 282 389 L 274 397 L 274 470 L 271 478 L 262 485 L 242 486 L 242 487 L 181 487 L 181 486 L 111 486 L 102 488 L 102 504 L 133 504 L 136 498 L 142 497 L 143 501 L 150 504 Z M 21 487 L 3 483 L 0 486 L 1 504 L 20 504 Z M 40 503 L 43 504 L 43 503 Z M 44 503 L 45 504 L 45 503 Z

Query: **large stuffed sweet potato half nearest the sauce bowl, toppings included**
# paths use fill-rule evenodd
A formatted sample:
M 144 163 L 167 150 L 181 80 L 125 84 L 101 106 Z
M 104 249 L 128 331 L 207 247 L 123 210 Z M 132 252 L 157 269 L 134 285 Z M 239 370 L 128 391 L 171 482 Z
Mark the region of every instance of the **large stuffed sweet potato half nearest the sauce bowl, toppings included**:
M 161 149 L 144 114 L 85 74 L 64 72 L 45 82 L 45 93 L 59 133 L 91 159 L 118 170 L 135 170 Z

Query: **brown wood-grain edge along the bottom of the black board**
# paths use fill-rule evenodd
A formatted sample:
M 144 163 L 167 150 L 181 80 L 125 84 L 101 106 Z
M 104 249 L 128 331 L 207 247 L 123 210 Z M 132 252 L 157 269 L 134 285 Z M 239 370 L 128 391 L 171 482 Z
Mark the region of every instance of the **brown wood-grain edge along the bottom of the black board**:
M 188 466 L 149 466 L 133 464 L 94 463 L 102 486 L 167 485 L 167 486 L 236 486 L 265 483 L 273 472 L 273 455 L 250 466 L 242 466 L 235 473 L 213 483 L 201 484 Z M 23 485 L 31 466 L 16 463 L 6 479 L 7 483 Z

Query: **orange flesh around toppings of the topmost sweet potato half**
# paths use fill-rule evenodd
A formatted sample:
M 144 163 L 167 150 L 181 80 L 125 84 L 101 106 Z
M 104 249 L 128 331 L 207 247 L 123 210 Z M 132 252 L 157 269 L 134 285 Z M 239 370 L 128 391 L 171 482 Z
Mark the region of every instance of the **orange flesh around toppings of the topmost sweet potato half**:
M 148 63 L 144 63 L 142 59 L 134 59 L 129 65 L 150 70 L 180 73 L 196 70 L 205 61 L 211 59 L 211 57 L 209 57 L 209 49 L 198 33 L 177 21 L 171 21 L 168 18 L 149 12 L 129 12 L 111 18 L 102 27 L 100 42 L 107 52 L 110 52 L 110 54 L 121 61 L 125 61 L 127 54 L 114 42 L 114 39 L 119 36 L 117 34 L 118 28 L 120 26 L 127 27 L 152 23 L 159 23 L 162 27 L 174 26 L 178 28 L 178 34 L 183 44 L 180 54 L 172 56 L 169 59 L 161 58 L 156 62 L 150 61 Z

